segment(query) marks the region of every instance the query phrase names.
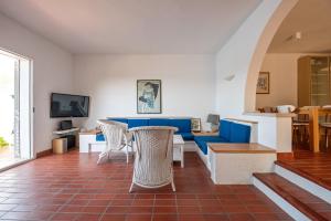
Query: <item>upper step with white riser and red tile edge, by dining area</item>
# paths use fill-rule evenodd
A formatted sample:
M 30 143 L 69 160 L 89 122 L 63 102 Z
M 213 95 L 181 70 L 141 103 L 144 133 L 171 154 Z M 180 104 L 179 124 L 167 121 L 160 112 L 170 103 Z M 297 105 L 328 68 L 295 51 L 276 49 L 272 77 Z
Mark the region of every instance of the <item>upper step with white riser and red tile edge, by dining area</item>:
M 277 160 L 275 162 L 275 172 L 300 188 L 309 191 L 310 193 L 321 198 L 322 200 L 331 203 L 331 188 L 324 180 L 308 173 L 291 164 Z

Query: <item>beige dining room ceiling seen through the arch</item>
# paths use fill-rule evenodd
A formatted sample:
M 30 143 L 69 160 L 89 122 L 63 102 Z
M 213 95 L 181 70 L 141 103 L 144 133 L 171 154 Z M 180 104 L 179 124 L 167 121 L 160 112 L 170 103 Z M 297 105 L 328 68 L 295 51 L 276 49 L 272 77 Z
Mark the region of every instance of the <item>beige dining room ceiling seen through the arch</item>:
M 301 40 L 291 38 L 297 31 Z M 331 52 L 331 0 L 299 0 L 282 21 L 269 52 Z

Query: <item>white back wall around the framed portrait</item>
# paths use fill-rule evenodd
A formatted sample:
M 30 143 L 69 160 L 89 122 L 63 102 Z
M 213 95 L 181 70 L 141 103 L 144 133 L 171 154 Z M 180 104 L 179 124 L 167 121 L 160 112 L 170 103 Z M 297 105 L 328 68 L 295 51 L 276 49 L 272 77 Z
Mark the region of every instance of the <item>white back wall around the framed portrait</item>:
M 138 116 L 137 80 L 162 81 L 162 114 L 148 116 L 205 119 L 214 109 L 214 55 L 75 56 L 75 92 L 92 97 L 84 126 L 109 116 Z

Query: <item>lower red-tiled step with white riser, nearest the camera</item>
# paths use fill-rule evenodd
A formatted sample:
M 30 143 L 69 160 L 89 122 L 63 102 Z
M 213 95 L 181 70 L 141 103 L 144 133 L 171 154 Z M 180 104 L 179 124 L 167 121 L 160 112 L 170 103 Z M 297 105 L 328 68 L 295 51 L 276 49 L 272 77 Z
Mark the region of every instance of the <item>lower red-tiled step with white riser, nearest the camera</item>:
M 253 177 L 253 183 L 295 220 L 331 220 L 331 204 L 277 173 Z

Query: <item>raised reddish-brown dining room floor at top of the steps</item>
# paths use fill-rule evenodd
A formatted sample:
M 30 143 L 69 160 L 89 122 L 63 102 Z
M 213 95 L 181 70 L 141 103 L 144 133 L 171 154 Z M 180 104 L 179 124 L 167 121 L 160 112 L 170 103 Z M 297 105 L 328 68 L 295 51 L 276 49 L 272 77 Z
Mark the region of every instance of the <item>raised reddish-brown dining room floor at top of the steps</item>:
M 293 159 L 281 159 L 285 168 L 331 190 L 331 152 L 314 154 L 310 150 L 295 150 Z

